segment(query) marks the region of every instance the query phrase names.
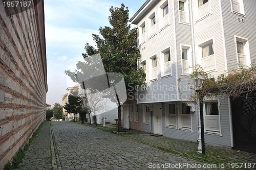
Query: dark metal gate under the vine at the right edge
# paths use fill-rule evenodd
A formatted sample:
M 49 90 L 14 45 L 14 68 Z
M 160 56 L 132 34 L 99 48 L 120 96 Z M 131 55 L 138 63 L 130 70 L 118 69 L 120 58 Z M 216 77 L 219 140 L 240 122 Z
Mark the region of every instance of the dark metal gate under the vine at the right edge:
M 256 91 L 231 101 L 234 148 L 256 153 Z

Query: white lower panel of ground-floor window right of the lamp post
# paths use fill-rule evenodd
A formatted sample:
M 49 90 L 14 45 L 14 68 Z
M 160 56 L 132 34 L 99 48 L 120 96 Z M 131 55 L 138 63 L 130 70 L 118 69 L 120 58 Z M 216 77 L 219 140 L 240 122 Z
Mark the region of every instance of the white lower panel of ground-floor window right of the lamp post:
M 219 116 L 205 115 L 205 130 L 206 131 L 220 131 Z

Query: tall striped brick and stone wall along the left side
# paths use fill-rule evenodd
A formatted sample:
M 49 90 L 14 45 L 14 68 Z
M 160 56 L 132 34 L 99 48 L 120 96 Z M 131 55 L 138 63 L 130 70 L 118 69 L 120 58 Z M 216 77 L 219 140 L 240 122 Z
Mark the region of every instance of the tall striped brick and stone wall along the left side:
M 7 12 L 0 2 L 0 169 L 46 117 L 44 1 Z

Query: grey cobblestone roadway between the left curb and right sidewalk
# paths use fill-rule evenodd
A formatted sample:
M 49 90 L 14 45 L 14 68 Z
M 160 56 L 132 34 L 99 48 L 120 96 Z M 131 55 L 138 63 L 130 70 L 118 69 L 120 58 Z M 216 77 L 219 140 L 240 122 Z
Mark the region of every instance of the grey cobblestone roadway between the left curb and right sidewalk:
M 200 163 L 88 126 L 51 125 L 58 169 L 155 169 L 148 164 Z

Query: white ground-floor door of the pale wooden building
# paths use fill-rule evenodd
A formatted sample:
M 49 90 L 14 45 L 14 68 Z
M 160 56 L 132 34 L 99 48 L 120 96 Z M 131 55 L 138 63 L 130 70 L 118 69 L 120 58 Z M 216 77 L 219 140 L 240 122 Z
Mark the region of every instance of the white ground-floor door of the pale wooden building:
M 154 133 L 162 134 L 162 104 L 156 105 L 156 110 L 154 109 Z

